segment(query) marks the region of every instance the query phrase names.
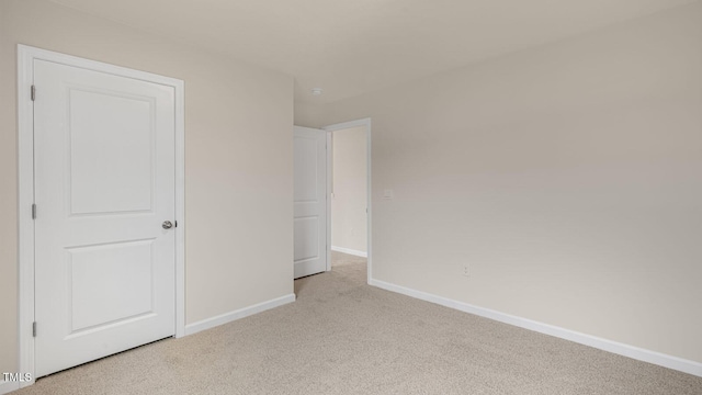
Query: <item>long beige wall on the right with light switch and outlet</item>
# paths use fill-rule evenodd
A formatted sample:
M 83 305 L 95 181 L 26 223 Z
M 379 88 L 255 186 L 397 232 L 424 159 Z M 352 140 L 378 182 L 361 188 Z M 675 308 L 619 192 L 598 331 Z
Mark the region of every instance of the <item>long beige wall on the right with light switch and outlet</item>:
M 700 2 L 325 123 L 366 116 L 375 279 L 702 362 Z

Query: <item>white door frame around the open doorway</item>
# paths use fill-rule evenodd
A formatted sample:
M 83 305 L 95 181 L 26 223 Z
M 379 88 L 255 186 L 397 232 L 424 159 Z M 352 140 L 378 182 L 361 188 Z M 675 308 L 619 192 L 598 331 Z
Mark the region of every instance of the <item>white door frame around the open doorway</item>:
M 342 123 L 338 123 L 338 124 L 333 124 L 333 125 L 329 125 L 329 126 L 325 126 L 322 127 L 324 131 L 327 132 L 327 271 L 331 270 L 331 133 L 336 132 L 336 131 L 341 131 L 341 129 L 347 129 L 347 128 L 352 128 L 352 127 L 360 127 L 360 126 L 365 126 L 365 143 L 366 143 L 366 176 L 365 176 L 365 180 L 367 182 L 366 185 L 366 198 L 365 198 L 365 206 L 367 207 L 367 214 L 366 214 L 366 223 L 365 226 L 367 227 L 367 233 L 366 233 L 366 237 L 367 237 L 367 241 L 366 241 L 366 248 L 367 248 L 367 280 L 366 282 L 370 284 L 371 280 L 373 279 L 373 259 L 372 259 L 372 253 L 371 251 L 373 250 L 373 246 L 372 246 L 372 237 L 371 237 L 371 230 L 372 230 L 372 213 L 373 210 L 371 210 L 371 119 L 366 117 L 366 119 L 362 119 L 362 120 L 355 120 L 355 121 L 349 121 L 349 122 L 342 122 Z

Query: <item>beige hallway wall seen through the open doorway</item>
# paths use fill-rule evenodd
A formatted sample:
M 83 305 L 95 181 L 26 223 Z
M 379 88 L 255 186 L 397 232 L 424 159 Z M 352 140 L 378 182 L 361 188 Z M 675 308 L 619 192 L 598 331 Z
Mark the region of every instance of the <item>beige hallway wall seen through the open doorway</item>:
M 332 145 L 331 246 L 366 252 L 365 126 L 333 132 Z

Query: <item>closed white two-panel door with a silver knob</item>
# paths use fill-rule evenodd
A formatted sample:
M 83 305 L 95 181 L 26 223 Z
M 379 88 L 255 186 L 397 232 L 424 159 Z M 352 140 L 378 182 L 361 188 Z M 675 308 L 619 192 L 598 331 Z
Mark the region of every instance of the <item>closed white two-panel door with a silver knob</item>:
M 35 372 L 174 335 L 174 90 L 34 61 Z M 174 225 L 174 224 L 173 224 Z

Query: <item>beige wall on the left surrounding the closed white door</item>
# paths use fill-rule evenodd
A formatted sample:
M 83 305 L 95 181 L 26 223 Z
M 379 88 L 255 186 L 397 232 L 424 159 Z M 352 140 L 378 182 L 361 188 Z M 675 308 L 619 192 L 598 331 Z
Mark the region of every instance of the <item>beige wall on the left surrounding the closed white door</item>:
M 16 370 L 18 43 L 185 81 L 189 324 L 293 292 L 291 77 L 45 1 L 0 7 L 1 372 Z

